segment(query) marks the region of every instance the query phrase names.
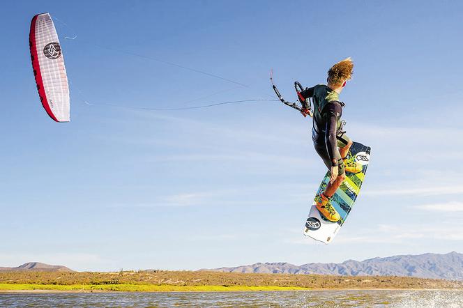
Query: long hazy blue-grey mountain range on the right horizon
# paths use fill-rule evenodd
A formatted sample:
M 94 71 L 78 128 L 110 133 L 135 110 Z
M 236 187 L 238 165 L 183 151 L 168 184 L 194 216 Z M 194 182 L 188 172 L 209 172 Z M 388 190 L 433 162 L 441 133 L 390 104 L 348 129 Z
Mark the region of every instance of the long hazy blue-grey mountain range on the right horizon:
M 342 263 L 255 263 L 234 268 L 215 268 L 219 272 L 257 272 L 286 274 L 321 274 L 343 276 L 402 276 L 463 280 L 463 254 L 420 254 L 388 256 Z

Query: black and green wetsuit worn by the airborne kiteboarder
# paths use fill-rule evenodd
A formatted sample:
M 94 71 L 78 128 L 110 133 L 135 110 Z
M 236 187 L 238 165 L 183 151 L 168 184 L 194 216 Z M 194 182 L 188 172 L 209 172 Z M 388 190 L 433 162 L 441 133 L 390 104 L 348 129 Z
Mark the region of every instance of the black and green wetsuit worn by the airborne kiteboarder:
M 301 92 L 304 98 L 312 98 L 314 103 L 314 116 L 312 140 L 318 155 L 326 164 L 328 170 L 338 166 L 338 174 L 344 174 L 344 162 L 339 153 L 340 148 L 347 146 L 350 139 L 342 132 L 342 106 L 339 93 L 324 84 L 312 88 L 305 88 Z

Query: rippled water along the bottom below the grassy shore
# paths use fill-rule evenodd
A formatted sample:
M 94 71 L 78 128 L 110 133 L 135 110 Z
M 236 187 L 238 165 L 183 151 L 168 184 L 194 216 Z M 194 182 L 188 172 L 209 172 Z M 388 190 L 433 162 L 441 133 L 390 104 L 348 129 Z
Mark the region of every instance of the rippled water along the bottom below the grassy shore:
M 0 307 L 463 307 L 463 290 L 0 293 Z

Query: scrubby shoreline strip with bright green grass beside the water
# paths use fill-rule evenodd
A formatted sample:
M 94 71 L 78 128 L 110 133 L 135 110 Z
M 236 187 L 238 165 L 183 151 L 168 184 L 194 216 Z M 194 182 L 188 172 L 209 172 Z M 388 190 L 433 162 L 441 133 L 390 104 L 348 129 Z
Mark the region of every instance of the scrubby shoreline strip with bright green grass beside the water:
M 222 292 L 378 288 L 461 289 L 463 283 L 395 276 L 347 277 L 209 271 L 0 272 L 0 291 Z

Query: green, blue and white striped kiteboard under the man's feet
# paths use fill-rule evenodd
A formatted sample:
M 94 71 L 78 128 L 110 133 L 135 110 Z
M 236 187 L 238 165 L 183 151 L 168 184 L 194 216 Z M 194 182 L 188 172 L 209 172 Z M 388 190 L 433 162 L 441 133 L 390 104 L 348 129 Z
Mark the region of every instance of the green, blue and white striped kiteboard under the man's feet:
M 328 244 L 333 241 L 337 232 L 340 231 L 342 224 L 349 216 L 352 207 L 360 192 L 363 180 L 365 180 L 365 174 L 367 172 L 368 163 L 370 162 L 370 146 L 364 146 L 358 142 L 352 144 L 347 159 L 354 159 L 358 164 L 362 165 L 362 171 L 358 174 L 346 173 L 346 179 L 342 185 L 336 190 L 331 199 L 331 204 L 340 214 L 341 219 L 337 222 L 330 222 L 323 215 L 320 214 L 315 206 L 315 201 L 312 203 L 308 219 L 305 221 L 304 235 L 310 236 L 314 240 L 319 240 Z M 330 172 L 326 172 L 324 179 L 321 181 L 321 185 L 317 190 L 317 194 L 325 190 L 326 185 L 330 180 Z M 317 196 L 315 194 L 315 196 Z

